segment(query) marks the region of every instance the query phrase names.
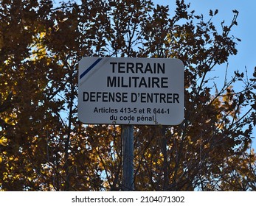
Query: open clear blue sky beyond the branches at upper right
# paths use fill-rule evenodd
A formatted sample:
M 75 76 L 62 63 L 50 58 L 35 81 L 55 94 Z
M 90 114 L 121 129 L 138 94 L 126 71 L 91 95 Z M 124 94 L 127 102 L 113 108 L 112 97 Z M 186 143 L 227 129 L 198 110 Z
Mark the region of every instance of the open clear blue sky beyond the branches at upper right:
M 176 0 L 153 0 L 154 4 L 169 5 L 170 13 L 176 8 Z M 190 3 L 190 10 L 195 10 L 196 15 L 204 15 L 205 19 L 209 17 L 209 11 L 218 10 L 218 14 L 212 18 L 215 26 L 221 26 L 221 21 L 229 25 L 233 18 L 232 10 L 238 10 L 238 26 L 234 26 L 231 35 L 240 38 L 237 49 L 238 54 L 229 57 L 229 75 L 234 71 L 248 71 L 249 77 L 252 77 L 253 70 L 256 66 L 256 0 L 184 0 L 186 4 Z M 226 65 L 221 65 L 226 68 Z M 224 82 L 225 70 L 222 70 L 222 79 Z M 229 77 L 231 78 L 231 77 Z M 221 81 L 221 77 L 219 78 Z M 222 82 L 220 82 L 222 83 Z M 239 84 L 238 84 L 239 87 Z M 238 88 L 239 89 L 239 88 Z M 256 128 L 253 136 L 256 137 Z M 252 147 L 256 151 L 256 138 L 252 141 Z

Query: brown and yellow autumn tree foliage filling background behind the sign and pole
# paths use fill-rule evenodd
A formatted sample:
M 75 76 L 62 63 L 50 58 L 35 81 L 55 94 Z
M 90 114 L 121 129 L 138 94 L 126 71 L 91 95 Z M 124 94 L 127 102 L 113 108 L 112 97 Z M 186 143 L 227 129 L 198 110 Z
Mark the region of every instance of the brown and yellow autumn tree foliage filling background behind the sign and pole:
M 120 13 L 122 10 L 122 13 Z M 77 65 L 84 56 L 165 57 L 184 63 L 185 117 L 175 127 L 135 126 L 135 190 L 255 190 L 255 77 L 228 69 L 240 40 L 176 1 L 1 1 L 0 188 L 122 190 L 118 125 L 77 120 Z M 225 70 L 226 69 L 226 70 Z M 243 90 L 232 88 L 243 82 Z

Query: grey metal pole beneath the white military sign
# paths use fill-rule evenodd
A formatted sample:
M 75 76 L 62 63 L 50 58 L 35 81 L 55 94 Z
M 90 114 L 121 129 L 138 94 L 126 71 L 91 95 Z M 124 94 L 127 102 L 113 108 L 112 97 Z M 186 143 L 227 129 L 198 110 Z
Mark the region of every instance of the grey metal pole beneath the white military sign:
M 134 190 L 134 126 L 122 125 L 122 189 Z

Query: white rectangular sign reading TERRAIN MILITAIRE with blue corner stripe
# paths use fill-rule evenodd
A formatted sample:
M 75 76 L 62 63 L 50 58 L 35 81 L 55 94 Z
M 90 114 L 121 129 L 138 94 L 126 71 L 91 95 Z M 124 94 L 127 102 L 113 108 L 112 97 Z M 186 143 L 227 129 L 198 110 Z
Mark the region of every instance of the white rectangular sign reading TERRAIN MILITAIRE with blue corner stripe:
M 181 124 L 184 65 L 178 59 L 84 57 L 78 118 L 85 124 Z

